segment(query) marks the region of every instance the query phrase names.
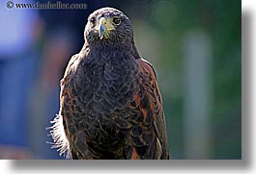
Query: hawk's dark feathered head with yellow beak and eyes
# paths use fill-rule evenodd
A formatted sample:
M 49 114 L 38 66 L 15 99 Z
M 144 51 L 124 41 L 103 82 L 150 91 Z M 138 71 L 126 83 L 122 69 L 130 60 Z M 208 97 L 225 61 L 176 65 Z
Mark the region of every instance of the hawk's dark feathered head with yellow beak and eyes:
M 132 28 L 128 16 L 114 8 L 101 8 L 90 14 L 84 31 L 90 43 L 133 43 Z

